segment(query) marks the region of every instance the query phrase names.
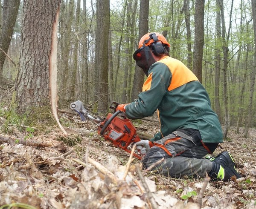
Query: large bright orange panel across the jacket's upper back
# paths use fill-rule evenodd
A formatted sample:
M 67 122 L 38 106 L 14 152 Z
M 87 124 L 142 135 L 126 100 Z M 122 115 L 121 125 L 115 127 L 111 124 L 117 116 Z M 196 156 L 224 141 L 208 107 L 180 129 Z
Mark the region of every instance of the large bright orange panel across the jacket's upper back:
M 195 74 L 179 60 L 172 57 L 163 57 L 158 62 L 164 63 L 172 73 L 172 82 L 168 87 L 168 91 L 176 89 L 190 81 L 198 80 Z

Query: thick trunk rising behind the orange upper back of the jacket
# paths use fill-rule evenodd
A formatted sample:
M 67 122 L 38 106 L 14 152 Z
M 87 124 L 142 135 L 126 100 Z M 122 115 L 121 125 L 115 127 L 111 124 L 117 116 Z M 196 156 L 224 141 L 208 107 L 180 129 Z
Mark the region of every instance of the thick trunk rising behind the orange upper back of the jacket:
M 204 0 L 195 0 L 195 45 L 193 54 L 193 72 L 202 83 L 204 51 Z

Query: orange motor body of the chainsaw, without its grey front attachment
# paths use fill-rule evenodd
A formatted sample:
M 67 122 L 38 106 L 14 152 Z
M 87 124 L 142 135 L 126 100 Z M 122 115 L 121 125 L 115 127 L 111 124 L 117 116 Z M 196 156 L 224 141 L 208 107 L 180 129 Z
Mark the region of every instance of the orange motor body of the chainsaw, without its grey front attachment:
M 115 114 L 111 113 L 99 124 L 98 134 L 102 135 L 105 140 L 109 140 L 114 146 L 120 147 L 129 153 L 131 153 L 131 150 L 128 149 L 128 146 L 140 141 L 131 120 L 116 117 Z M 134 153 L 134 156 L 141 159 L 141 156 L 136 153 Z

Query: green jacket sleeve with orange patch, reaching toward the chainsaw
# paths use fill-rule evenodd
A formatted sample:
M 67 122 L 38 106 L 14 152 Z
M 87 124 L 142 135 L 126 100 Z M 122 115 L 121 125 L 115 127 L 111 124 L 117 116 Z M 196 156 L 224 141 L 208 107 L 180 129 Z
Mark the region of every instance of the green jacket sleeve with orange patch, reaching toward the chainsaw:
M 125 107 L 126 116 L 130 119 L 148 117 L 154 114 L 164 95 L 168 91 L 172 74 L 163 63 L 154 63 L 148 70 L 148 77 L 143 85 L 139 98 Z

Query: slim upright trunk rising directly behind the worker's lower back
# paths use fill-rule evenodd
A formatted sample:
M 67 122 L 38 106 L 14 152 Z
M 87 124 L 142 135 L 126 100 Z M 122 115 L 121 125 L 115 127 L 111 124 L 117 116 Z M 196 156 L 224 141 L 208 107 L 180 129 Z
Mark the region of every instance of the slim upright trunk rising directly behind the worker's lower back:
M 221 52 L 220 52 L 220 43 L 221 43 L 221 11 L 219 4 L 216 2 L 216 30 L 215 30 L 215 112 L 218 115 L 219 120 L 221 121 L 221 105 L 220 105 L 220 75 L 221 75 Z

